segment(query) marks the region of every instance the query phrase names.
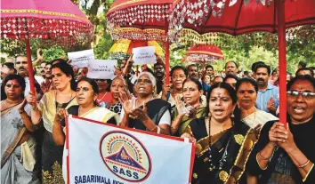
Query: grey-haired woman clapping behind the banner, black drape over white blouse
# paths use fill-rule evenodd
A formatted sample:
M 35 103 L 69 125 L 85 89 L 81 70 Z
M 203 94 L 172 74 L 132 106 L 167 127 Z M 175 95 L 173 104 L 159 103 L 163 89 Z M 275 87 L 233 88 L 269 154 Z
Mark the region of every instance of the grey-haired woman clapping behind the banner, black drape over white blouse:
M 161 99 L 154 99 L 156 78 L 149 72 L 142 72 L 135 84 L 138 98 L 128 100 L 124 91 L 120 91 L 120 125 L 149 132 L 170 134 L 170 105 Z

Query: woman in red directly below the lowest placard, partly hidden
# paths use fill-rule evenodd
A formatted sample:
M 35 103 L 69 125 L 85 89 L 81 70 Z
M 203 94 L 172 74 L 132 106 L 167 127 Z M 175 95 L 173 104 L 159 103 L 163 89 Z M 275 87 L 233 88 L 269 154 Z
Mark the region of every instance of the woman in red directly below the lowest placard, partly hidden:
M 96 82 L 98 88 L 99 88 L 99 96 L 97 97 L 96 102 L 100 104 L 101 107 L 106 108 L 107 105 L 111 100 L 113 100 L 113 97 L 111 96 L 111 93 L 109 92 L 109 86 L 111 83 L 110 79 L 94 79 Z

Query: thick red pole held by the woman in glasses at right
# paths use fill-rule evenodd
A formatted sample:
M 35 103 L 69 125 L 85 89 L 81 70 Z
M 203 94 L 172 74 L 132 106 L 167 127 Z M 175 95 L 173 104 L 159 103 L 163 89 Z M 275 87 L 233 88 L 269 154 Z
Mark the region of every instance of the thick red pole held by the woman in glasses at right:
M 276 4 L 277 3 L 277 4 Z M 285 2 L 275 1 L 278 12 L 278 46 L 279 46 L 279 120 L 287 126 L 287 43 L 285 25 Z

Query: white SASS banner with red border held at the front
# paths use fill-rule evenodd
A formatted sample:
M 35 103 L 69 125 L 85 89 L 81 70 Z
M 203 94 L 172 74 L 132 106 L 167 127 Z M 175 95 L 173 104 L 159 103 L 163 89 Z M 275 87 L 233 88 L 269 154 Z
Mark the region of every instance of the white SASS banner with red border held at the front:
M 181 138 L 69 116 L 68 183 L 190 183 L 195 147 Z

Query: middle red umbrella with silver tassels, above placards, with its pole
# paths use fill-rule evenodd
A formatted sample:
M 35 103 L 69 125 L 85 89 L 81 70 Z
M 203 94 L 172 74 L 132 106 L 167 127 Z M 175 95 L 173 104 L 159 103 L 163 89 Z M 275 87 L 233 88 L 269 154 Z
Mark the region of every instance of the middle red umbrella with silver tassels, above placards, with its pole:
M 117 0 L 112 4 L 106 17 L 108 19 L 109 32 L 115 32 L 115 28 L 140 28 L 152 29 L 154 32 L 164 30 L 168 32 L 169 8 L 174 3 L 173 0 Z M 149 31 L 148 31 L 149 32 Z M 128 37 L 131 40 L 137 40 L 142 32 L 123 32 L 120 31 L 118 38 L 126 38 L 124 35 L 131 34 Z M 134 37 L 133 37 L 134 36 Z M 144 35 L 144 37 L 147 35 Z M 114 37 L 113 37 L 114 38 Z M 117 35 L 116 35 L 117 38 Z M 158 38 L 158 36 L 157 36 Z M 169 73 L 169 43 L 166 36 L 162 38 L 166 46 L 166 74 Z M 141 38 L 142 40 L 142 38 Z M 153 39 L 152 39 L 153 40 Z M 169 83 L 169 75 L 166 75 L 166 84 Z

